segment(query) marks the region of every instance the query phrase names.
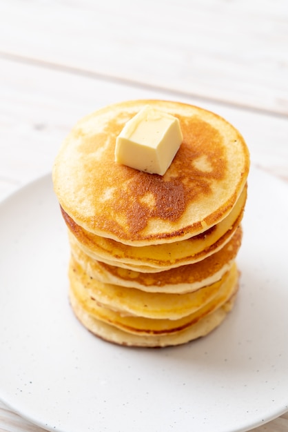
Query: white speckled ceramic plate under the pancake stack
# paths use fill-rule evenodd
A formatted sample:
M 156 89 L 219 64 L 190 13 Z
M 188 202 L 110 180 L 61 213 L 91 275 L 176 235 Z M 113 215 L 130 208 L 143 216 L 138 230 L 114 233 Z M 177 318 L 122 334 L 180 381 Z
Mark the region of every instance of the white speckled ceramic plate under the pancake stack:
M 209 336 L 134 349 L 68 303 L 68 241 L 49 177 L 0 206 L 0 397 L 50 431 L 247 431 L 288 409 L 288 188 L 253 168 L 234 311 Z

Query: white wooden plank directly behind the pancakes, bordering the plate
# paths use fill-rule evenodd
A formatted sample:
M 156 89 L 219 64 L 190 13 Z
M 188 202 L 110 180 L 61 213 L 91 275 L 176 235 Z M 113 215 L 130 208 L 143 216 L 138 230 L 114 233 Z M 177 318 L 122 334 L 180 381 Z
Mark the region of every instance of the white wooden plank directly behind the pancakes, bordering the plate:
M 125 99 L 175 99 L 172 92 L 3 59 L 0 92 L 0 198 L 51 170 L 61 141 L 80 117 Z M 213 110 L 231 121 L 245 137 L 252 162 L 285 178 L 285 118 L 198 98 L 182 96 L 178 100 Z

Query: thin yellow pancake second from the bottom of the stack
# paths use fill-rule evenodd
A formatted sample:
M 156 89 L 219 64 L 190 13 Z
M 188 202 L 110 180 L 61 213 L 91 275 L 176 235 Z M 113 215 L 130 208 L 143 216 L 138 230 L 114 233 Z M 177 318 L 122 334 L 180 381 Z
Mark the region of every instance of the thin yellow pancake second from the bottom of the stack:
M 223 278 L 223 282 L 218 286 L 216 295 L 214 295 L 209 302 L 198 308 L 194 313 L 177 320 L 161 318 L 150 319 L 142 316 L 123 315 L 122 313 L 113 311 L 110 308 L 99 306 L 99 304 L 97 304 L 94 298 L 90 295 L 89 290 L 85 288 L 77 277 L 71 277 L 70 273 L 70 293 L 72 293 L 72 297 L 76 299 L 76 303 L 78 302 L 81 304 L 81 307 L 97 320 L 111 324 L 112 326 L 120 328 L 128 333 L 138 335 L 164 335 L 182 331 L 184 328 L 192 326 L 198 322 L 205 315 L 208 315 L 220 308 L 220 306 L 225 304 L 225 302 L 227 302 L 236 293 L 237 289 L 238 271 L 236 265 L 234 265 L 227 274 L 227 277 Z

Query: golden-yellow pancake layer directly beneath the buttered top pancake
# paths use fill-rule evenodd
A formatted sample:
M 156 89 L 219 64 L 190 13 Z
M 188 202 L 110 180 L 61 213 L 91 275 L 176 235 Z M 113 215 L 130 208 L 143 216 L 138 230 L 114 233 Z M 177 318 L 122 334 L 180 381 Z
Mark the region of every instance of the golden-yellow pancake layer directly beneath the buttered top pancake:
M 182 242 L 151 246 L 130 246 L 88 233 L 87 230 L 77 225 L 67 213 L 64 211 L 62 213 L 68 228 L 87 255 L 107 264 L 116 262 L 118 266 L 149 273 L 149 268 L 155 268 L 157 271 L 192 264 L 219 251 L 229 242 L 240 225 L 246 197 L 247 188 L 245 187 L 229 215 L 205 233 Z M 70 241 L 73 242 L 73 239 L 70 238 Z

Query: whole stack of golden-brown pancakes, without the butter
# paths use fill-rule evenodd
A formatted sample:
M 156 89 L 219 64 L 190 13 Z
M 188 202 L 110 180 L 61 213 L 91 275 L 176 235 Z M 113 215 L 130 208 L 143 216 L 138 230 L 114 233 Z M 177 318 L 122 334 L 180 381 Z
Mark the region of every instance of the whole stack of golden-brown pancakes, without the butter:
M 181 125 L 163 176 L 114 161 L 116 137 L 147 105 Z M 240 133 L 195 106 L 127 101 L 79 121 L 52 176 L 80 322 L 104 340 L 149 347 L 184 344 L 223 322 L 238 291 L 248 172 Z

